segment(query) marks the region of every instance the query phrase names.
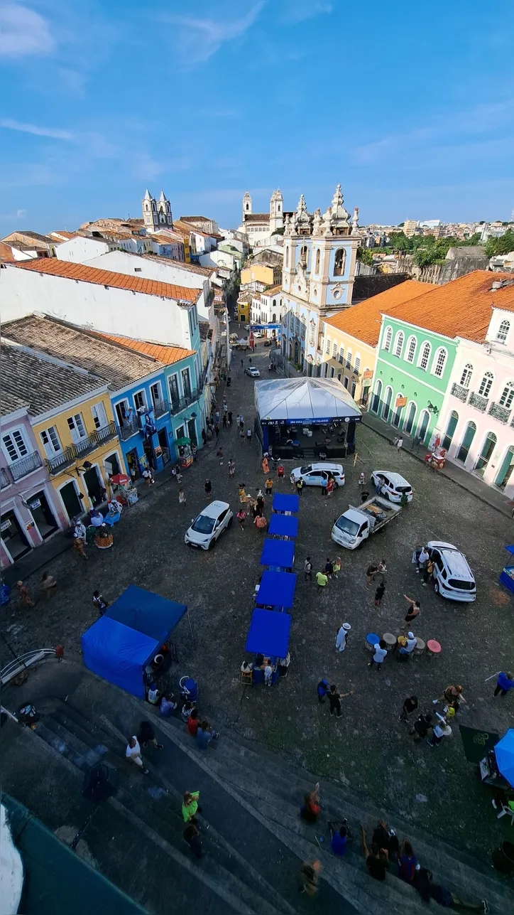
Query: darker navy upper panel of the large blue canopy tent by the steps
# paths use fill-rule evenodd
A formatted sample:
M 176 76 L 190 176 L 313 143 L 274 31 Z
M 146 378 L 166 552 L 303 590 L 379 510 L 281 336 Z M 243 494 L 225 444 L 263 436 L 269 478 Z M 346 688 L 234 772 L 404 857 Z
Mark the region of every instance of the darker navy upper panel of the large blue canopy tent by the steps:
M 130 585 L 106 610 L 105 615 L 156 639 L 162 645 L 186 610 L 185 604 L 177 604 L 160 594 L 152 594 L 152 591 Z

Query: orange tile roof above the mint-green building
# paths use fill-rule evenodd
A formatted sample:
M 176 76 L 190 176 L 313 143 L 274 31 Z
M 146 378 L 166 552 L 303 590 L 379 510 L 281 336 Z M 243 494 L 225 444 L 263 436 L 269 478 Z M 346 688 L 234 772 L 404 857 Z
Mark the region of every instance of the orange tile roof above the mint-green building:
M 496 290 L 492 288 L 494 283 L 502 281 L 507 285 Z M 406 283 L 396 286 L 396 289 L 402 289 L 404 285 Z M 371 300 L 368 299 L 369 301 Z M 362 305 L 365 304 L 362 302 Z M 423 296 L 423 300 L 405 302 L 394 309 L 392 317 L 417 324 L 451 339 L 463 337 L 483 343 L 488 332 L 492 307 L 514 311 L 514 277 L 512 274 L 474 270 L 471 274 L 459 276 L 451 283 L 436 286 L 432 292 Z M 388 307 L 381 310 L 389 314 Z

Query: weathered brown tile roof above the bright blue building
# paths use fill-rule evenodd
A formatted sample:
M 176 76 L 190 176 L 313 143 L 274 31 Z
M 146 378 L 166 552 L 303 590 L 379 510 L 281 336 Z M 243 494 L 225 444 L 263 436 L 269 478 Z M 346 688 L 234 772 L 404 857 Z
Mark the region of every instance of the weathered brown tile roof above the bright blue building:
M 163 368 L 163 363 L 146 356 L 127 353 L 120 346 L 91 330 L 77 328 L 68 321 L 48 318 L 46 315 L 27 315 L 7 321 L 2 328 L 5 339 L 20 346 L 46 353 L 54 359 L 66 361 L 109 382 L 111 391 L 118 391 L 131 382 Z M 107 335 L 106 335 L 107 336 Z

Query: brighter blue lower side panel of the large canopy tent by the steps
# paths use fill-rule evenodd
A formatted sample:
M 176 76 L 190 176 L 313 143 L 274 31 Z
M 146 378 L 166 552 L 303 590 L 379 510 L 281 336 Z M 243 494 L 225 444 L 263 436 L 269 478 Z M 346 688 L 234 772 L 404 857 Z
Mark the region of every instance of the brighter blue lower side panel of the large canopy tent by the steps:
M 144 699 L 142 670 L 160 648 L 161 639 L 151 639 L 103 616 L 84 632 L 81 641 L 84 663 L 90 671 Z

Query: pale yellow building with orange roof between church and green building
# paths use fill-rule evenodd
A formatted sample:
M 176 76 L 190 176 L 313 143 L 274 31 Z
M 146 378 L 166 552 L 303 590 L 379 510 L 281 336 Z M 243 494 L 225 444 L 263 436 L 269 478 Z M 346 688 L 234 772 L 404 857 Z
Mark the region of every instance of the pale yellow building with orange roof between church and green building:
M 320 374 L 337 378 L 358 404 L 366 406 L 376 361 L 376 346 L 383 312 L 394 314 L 394 308 L 433 289 L 428 283 L 406 280 L 378 296 L 364 299 L 323 320 Z

